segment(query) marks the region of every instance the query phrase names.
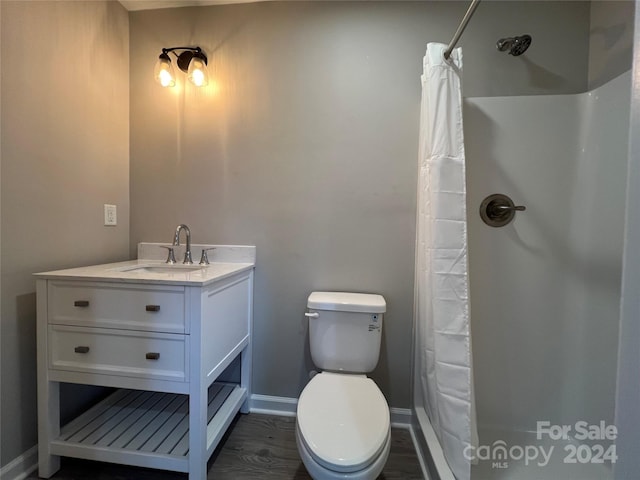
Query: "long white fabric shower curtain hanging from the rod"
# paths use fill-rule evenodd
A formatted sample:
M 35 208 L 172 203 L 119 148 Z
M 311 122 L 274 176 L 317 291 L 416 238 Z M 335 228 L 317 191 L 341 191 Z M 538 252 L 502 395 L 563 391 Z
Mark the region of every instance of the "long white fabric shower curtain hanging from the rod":
M 468 480 L 477 443 L 471 371 L 462 51 L 430 43 L 424 57 L 415 315 L 421 397 L 445 458 Z M 473 433 L 472 433 L 473 432 Z M 472 440 L 473 439 L 473 440 Z M 466 455 L 465 455 L 466 453 Z

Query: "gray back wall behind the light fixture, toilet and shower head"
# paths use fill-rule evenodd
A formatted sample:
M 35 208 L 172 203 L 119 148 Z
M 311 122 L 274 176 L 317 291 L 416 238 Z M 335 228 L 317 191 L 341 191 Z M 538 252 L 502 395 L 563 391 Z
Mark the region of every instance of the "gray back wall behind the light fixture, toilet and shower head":
M 385 296 L 373 378 L 410 406 L 415 191 L 425 46 L 466 2 L 256 3 L 130 13 L 131 255 L 166 242 L 258 247 L 255 393 L 297 397 L 313 368 L 313 290 Z M 496 51 L 529 33 L 530 52 Z M 483 2 L 464 48 L 469 96 L 587 86 L 589 4 Z M 567 41 L 567 40 L 570 41 Z M 211 84 L 153 81 L 162 47 L 199 45 Z

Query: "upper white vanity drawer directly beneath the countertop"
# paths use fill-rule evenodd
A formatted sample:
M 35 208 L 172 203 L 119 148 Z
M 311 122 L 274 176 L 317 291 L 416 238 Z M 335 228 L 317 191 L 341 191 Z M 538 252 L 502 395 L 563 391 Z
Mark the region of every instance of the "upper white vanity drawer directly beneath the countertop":
M 188 333 L 183 286 L 50 281 L 50 324 Z

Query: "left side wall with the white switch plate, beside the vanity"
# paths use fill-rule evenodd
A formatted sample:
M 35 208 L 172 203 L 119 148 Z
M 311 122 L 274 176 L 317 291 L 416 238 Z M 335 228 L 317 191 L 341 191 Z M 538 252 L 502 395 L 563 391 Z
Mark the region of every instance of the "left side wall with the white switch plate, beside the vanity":
M 129 251 L 129 31 L 117 2 L 0 3 L 1 451 L 36 444 L 32 273 Z M 118 206 L 104 227 L 103 204 Z M 65 405 L 94 392 L 65 388 Z M 64 412 L 63 412 L 64 416 Z

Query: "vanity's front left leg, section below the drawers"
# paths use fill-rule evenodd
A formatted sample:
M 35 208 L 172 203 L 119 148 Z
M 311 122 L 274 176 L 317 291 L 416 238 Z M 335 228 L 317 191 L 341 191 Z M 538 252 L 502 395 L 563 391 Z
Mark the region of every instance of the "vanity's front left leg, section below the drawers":
M 60 470 L 60 457 L 51 455 L 51 441 L 60 435 L 60 384 L 38 386 L 38 476 L 49 478 Z

